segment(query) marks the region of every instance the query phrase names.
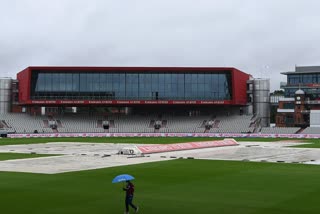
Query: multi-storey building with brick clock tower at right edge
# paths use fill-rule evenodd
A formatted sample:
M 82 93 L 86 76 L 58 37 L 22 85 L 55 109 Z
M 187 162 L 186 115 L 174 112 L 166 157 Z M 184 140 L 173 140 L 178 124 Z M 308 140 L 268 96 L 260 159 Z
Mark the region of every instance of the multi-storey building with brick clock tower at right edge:
M 296 67 L 280 87 L 285 97 L 279 100 L 277 127 L 320 127 L 320 66 Z

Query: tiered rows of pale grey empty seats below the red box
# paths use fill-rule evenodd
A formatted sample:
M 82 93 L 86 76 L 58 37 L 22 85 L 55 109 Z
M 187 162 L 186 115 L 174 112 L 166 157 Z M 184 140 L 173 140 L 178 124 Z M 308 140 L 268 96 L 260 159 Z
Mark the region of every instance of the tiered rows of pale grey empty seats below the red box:
M 295 134 L 296 127 L 260 127 L 255 115 L 124 115 L 64 114 L 31 116 L 0 114 L 0 130 L 8 133 L 263 133 Z M 319 134 L 320 127 L 308 127 L 301 134 Z

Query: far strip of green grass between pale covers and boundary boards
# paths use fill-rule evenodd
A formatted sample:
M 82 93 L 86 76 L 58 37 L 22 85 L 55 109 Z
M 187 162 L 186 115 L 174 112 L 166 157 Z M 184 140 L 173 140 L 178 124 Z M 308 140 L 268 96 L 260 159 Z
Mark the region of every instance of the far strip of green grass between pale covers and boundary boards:
M 94 142 L 94 143 L 132 143 L 132 144 L 170 144 L 191 141 L 221 140 L 223 138 L 210 137 L 66 137 L 66 138 L 2 138 L 1 145 L 33 144 L 48 142 Z M 310 144 L 299 147 L 320 148 L 320 139 L 288 139 L 288 138 L 235 138 L 237 141 L 283 141 L 303 140 Z

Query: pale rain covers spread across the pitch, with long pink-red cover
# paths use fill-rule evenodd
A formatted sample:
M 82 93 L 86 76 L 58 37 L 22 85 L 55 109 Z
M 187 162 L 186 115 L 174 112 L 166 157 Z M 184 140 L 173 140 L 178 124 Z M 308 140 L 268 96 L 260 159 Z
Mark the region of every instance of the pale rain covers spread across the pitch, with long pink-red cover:
M 193 140 L 193 138 L 189 139 Z M 152 138 L 149 139 L 152 141 Z M 227 142 L 226 142 L 227 141 Z M 1 146 L 1 153 L 25 153 L 54 155 L 32 159 L 15 159 L 0 162 L 1 171 L 55 174 L 89 169 L 108 168 L 173 159 L 237 160 L 254 162 L 320 164 L 320 150 L 313 148 L 290 148 L 305 143 L 236 142 L 211 140 L 195 142 L 212 145 L 188 147 L 192 143 L 179 144 L 101 144 L 77 142 L 52 142 L 44 144 L 20 144 Z M 143 142 L 143 141 L 142 141 Z M 216 143 L 214 145 L 214 143 Z M 176 146 L 174 146 L 176 145 Z M 185 149 L 185 148 L 187 149 Z M 121 155 L 123 148 L 136 149 L 131 155 Z

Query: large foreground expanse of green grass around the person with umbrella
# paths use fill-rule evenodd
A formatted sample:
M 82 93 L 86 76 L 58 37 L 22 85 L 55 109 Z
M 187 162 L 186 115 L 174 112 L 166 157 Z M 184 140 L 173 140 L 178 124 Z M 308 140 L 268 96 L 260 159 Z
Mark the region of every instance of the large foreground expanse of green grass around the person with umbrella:
M 122 173 L 136 177 L 141 214 L 320 212 L 320 166 L 181 159 L 55 175 L 0 172 L 0 210 L 122 214 L 122 184 L 111 183 Z

